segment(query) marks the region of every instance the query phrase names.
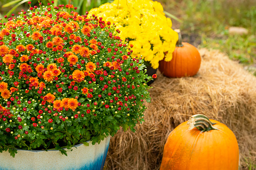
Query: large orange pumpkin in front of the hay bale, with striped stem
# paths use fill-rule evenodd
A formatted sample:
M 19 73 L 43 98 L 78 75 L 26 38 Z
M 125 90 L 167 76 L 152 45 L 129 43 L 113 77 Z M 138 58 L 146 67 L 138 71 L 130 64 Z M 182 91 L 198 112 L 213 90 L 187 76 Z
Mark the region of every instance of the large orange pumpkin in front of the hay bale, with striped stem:
M 234 133 L 226 125 L 197 114 L 168 136 L 160 170 L 237 170 L 238 162 Z

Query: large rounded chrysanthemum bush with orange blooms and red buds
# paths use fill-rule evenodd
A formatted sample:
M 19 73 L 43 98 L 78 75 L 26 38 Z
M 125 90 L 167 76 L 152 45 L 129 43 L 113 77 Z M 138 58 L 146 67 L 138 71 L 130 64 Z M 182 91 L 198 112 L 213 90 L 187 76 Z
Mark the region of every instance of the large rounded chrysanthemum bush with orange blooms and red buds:
M 67 154 L 144 121 L 152 77 L 143 60 L 114 24 L 72 8 L 30 7 L 0 24 L 0 152 Z

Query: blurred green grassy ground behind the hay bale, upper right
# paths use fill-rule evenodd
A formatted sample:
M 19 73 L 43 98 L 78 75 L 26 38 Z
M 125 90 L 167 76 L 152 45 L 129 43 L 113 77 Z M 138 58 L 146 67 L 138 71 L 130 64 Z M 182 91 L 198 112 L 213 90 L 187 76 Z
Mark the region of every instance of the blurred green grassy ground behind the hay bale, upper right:
M 160 0 L 164 10 L 182 20 L 173 21 L 184 40 L 195 46 L 218 49 L 245 65 L 256 63 L 256 1 Z M 228 27 L 244 27 L 247 36 L 228 35 Z M 191 37 L 193 38 L 190 41 Z M 189 42 L 190 41 L 190 42 Z

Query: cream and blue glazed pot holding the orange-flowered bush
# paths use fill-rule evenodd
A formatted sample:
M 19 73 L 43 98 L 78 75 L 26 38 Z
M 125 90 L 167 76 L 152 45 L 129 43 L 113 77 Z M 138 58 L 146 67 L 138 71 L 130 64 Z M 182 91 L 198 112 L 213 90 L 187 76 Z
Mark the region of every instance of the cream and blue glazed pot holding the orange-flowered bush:
M 102 170 L 107 156 L 110 136 L 100 142 L 89 146 L 75 145 L 72 151 L 62 155 L 58 150 L 18 150 L 15 157 L 8 151 L 0 153 L 0 170 L 49 170 L 49 169 L 76 169 L 76 170 Z

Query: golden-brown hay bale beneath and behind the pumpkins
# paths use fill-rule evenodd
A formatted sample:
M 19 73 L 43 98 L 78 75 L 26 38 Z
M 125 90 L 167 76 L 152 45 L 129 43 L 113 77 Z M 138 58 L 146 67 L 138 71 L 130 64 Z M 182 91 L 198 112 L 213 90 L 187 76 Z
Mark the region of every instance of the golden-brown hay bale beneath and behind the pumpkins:
M 158 72 L 145 122 L 135 133 L 119 130 L 111 138 L 105 169 L 159 169 L 169 133 L 194 114 L 235 133 L 242 169 L 246 161 L 255 162 L 256 78 L 218 51 L 201 49 L 200 54 L 201 69 L 194 77 L 166 78 Z

